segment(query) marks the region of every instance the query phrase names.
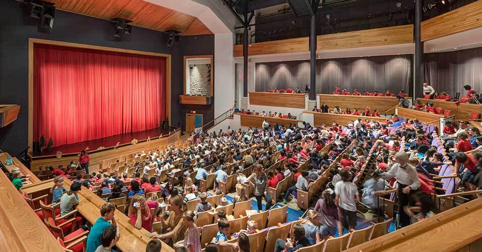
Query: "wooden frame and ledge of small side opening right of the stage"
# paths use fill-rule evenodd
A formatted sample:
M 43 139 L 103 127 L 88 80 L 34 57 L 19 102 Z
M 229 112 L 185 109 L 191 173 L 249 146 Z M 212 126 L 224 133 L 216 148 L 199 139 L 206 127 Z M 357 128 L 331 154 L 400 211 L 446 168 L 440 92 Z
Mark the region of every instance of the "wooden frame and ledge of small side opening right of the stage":
M 189 59 L 209 59 L 211 66 L 211 78 L 209 83 L 209 96 L 203 95 L 188 95 L 186 83 L 187 83 L 187 67 Z M 181 104 L 199 104 L 199 105 L 210 105 L 212 104 L 212 97 L 214 96 L 214 56 L 213 55 L 189 55 L 184 56 L 184 78 L 183 78 L 183 94 L 179 96 L 179 102 Z

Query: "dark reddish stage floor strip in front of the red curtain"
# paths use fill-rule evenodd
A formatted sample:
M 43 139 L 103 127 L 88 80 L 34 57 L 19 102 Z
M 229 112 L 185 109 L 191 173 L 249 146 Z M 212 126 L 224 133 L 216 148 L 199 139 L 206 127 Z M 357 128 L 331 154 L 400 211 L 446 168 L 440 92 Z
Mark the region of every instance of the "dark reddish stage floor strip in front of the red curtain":
M 147 137 L 150 137 L 151 139 L 158 138 L 160 134 L 163 134 L 163 136 L 167 136 L 169 135 L 169 132 L 174 132 L 174 130 L 179 130 L 179 129 L 172 128 L 172 127 L 169 129 L 156 128 L 148 131 L 126 133 L 121 135 L 115 135 L 108 138 L 100 138 L 100 139 L 84 141 L 84 142 L 75 143 L 75 144 L 61 145 L 61 146 L 52 148 L 51 151 L 47 151 L 46 149 L 44 149 L 42 152 L 30 153 L 30 155 L 32 157 L 50 156 L 50 155 L 55 156 L 57 155 L 58 151 L 61 151 L 63 155 L 67 155 L 67 154 L 80 153 L 82 150 L 85 150 L 86 147 L 89 147 L 87 152 L 91 152 L 91 151 L 97 150 L 100 146 L 103 146 L 104 148 L 109 148 L 109 147 L 116 146 L 117 143 L 119 143 L 120 146 L 123 144 L 130 144 L 132 139 L 137 139 L 140 142 L 140 141 L 146 140 Z

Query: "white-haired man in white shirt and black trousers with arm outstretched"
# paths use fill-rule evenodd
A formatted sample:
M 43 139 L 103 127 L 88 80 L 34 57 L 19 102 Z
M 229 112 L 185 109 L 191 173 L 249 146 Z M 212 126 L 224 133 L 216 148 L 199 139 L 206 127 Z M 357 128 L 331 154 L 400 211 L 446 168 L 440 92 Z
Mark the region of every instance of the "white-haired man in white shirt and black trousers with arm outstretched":
M 418 173 L 415 167 L 408 164 L 409 156 L 404 152 L 395 154 L 395 164 L 388 172 L 381 173 L 383 178 L 395 177 L 398 182 L 398 214 L 400 215 L 399 226 L 405 227 L 410 224 L 410 217 L 403 211 L 403 207 L 408 205 L 410 196 L 415 194 L 420 187 Z

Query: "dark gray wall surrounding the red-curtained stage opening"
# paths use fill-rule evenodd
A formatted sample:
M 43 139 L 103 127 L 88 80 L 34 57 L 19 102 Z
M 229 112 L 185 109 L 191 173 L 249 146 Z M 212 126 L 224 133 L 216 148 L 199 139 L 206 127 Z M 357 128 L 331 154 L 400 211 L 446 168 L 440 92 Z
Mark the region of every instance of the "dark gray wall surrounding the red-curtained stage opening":
M 179 105 L 183 92 L 183 56 L 188 54 L 214 54 L 214 36 L 186 36 L 170 48 L 167 35 L 138 27 L 132 36 L 122 42 L 115 41 L 113 25 L 109 21 L 57 10 L 55 24 L 50 31 L 39 31 L 36 22 L 28 18 L 24 5 L 15 1 L 0 1 L 0 104 L 19 104 L 21 110 L 16 121 L 0 128 L 0 149 L 17 155 L 28 142 L 28 38 L 59 40 L 81 44 L 109 46 L 124 49 L 170 53 L 172 55 L 172 125 L 184 122 L 189 108 Z M 214 105 L 196 107 L 211 120 Z M 59 118 L 62 119 L 62 118 Z M 184 124 L 184 123 L 183 123 Z

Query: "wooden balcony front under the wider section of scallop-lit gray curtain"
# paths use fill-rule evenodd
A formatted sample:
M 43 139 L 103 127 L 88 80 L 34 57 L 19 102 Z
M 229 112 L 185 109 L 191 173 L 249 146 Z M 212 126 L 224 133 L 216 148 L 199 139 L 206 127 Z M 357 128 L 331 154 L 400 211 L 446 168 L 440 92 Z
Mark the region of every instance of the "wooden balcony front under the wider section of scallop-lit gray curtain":
M 397 97 L 386 96 L 318 94 L 318 97 L 320 106 L 325 102 L 332 111 L 335 106 L 339 106 L 343 110 L 350 108 L 352 112 L 353 108 L 356 108 L 361 113 L 365 110 L 366 106 L 369 106 L 370 112 L 373 112 L 374 109 L 378 109 L 378 112 L 383 114 L 385 113 L 385 110 L 391 109 L 399 103 Z M 395 113 L 395 110 L 388 111 L 388 113 Z

